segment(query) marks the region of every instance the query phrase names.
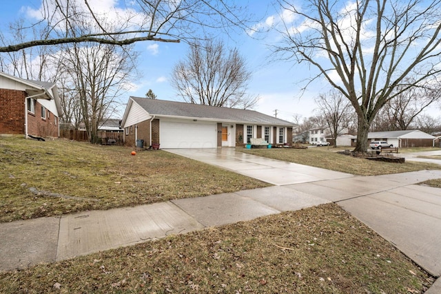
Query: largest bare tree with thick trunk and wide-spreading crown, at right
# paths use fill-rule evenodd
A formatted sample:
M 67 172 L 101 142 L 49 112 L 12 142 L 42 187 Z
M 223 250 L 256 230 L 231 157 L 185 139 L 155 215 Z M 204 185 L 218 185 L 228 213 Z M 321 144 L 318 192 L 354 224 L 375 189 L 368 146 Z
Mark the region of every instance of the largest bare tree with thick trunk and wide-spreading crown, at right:
M 366 151 L 384 105 L 441 71 L 440 0 L 279 2 L 291 17 L 276 52 L 317 70 L 307 85 L 325 78 L 349 99 L 358 116 L 355 151 Z

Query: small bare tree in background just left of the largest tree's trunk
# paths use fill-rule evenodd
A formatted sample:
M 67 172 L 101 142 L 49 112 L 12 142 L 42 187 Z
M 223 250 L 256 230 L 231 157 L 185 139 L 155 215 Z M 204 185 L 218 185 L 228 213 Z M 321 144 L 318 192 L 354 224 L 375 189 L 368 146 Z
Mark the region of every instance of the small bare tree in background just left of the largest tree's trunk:
M 337 147 L 337 137 L 343 132 L 348 132 L 351 123 L 351 112 L 353 108 L 337 90 L 328 94 L 321 94 L 316 98 L 318 105 L 318 116 L 322 117 L 327 125 L 329 134 L 334 139 L 334 147 Z

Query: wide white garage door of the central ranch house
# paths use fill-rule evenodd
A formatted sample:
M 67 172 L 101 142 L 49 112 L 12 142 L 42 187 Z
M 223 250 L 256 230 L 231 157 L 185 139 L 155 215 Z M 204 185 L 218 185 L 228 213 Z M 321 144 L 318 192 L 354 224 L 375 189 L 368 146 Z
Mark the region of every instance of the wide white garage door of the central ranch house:
M 159 143 L 161 148 L 214 148 L 217 124 L 159 120 Z

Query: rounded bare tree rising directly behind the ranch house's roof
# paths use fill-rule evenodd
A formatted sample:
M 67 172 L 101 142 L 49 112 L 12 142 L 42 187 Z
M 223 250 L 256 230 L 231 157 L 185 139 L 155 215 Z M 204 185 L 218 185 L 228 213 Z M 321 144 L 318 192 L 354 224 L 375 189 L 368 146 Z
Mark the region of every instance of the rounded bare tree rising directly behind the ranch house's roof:
M 189 103 L 247 109 L 258 100 L 246 94 L 251 73 L 237 49 L 209 39 L 190 46 L 172 72 L 172 85 Z

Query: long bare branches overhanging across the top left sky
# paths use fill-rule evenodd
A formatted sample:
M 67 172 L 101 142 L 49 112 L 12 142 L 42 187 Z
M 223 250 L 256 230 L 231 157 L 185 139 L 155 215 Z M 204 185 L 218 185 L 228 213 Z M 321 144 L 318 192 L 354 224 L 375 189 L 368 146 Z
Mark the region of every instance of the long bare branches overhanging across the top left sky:
M 120 1 L 121 2 L 121 1 Z M 139 41 L 178 43 L 196 37 L 203 28 L 247 28 L 247 9 L 231 1 L 134 0 L 122 1 L 118 9 L 103 11 L 103 3 L 88 0 L 42 0 L 35 21 L 16 25 L 20 30 L 46 32 L 41 39 L 3 43 L 0 52 L 14 52 L 40 45 L 94 42 L 130 45 Z M 110 26 L 106 21 L 112 18 Z M 31 19 L 32 20 L 32 19 Z M 93 31 L 78 30 L 92 23 Z M 115 26 L 117 24 L 118 26 Z

